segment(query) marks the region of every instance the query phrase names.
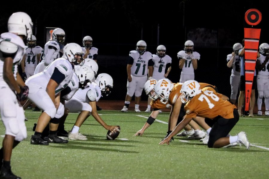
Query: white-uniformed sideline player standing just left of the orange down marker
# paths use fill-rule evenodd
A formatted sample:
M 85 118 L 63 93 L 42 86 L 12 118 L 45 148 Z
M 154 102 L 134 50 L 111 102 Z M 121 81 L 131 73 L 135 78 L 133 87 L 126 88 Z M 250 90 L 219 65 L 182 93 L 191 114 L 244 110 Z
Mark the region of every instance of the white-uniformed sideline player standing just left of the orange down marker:
M 230 84 L 232 88 L 230 101 L 235 104 L 236 96 L 240 84 L 240 57 L 238 52 L 243 46 L 240 43 L 235 43 L 233 45 L 233 53 L 227 55 L 227 67 L 233 67 L 232 74 L 230 76 Z

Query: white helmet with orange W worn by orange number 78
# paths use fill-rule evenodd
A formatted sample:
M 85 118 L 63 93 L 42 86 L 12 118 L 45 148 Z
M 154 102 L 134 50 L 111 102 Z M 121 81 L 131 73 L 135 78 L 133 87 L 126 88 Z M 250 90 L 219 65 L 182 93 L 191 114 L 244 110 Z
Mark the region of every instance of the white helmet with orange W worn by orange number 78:
M 200 94 L 202 91 L 200 89 L 200 84 L 195 80 L 188 80 L 182 84 L 180 92 L 182 95 L 180 99 L 182 103 L 187 103 L 195 95 Z

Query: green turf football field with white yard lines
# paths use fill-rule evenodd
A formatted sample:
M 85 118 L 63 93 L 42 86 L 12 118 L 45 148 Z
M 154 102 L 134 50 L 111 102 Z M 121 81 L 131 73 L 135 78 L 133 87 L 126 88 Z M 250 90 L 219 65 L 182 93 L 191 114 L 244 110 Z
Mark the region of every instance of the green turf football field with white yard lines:
M 230 132 L 245 131 L 251 143 L 244 146 L 210 149 L 198 140 L 175 137 L 167 146 L 158 143 L 167 132 L 169 112 L 158 120 L 143 136 L 133 136 L 142 128 L 149 113 L 102 110 L 101 118 L 108 125 L 121 127 L 119 137 L 106 140 L 107 130 L 90 116 L 80 132 L 87 141 L 71 141 L 49 146 L 31 145 L 33 124 L 40 112 L 26 110 L 27 139 L 12 153 L 11 167 L 22 178 L 268 178 L 269 118 L 254 115 L 240 117 Z M 65 130 L 69 131 L 78 114 L 69 114 Z M 1 142 L 4 126 L 0 124 Z

